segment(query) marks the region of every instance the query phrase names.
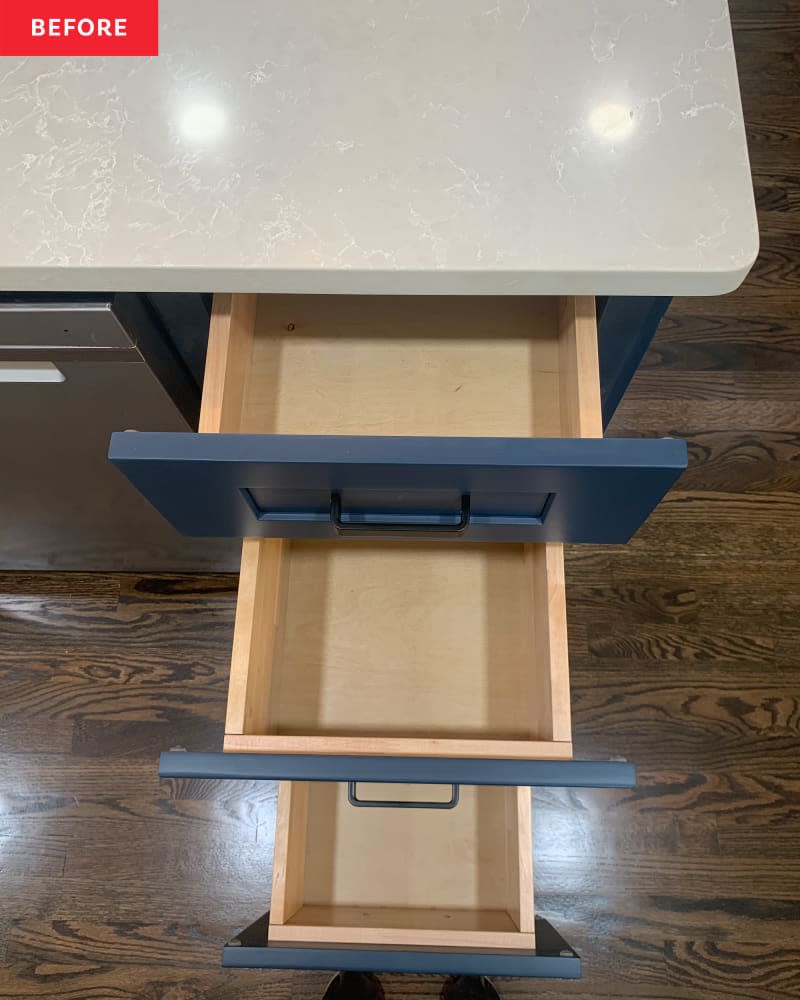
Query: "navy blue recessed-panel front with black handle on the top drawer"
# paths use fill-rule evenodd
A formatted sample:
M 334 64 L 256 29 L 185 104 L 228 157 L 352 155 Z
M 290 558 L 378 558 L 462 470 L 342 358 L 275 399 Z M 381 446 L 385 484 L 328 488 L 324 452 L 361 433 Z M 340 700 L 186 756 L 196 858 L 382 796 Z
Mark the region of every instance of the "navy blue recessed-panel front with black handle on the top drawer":
M 615 543 L 687 452 L 674 439 L 123 432 L 109 458 L 184 535 Z

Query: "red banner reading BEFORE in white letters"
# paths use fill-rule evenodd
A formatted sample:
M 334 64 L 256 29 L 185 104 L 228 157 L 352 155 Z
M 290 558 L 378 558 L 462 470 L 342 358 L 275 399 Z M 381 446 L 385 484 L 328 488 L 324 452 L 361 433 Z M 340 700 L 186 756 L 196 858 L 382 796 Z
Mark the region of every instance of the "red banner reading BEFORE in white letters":
M 157 56 L 158 0 L 0 0 L 0 56 Z

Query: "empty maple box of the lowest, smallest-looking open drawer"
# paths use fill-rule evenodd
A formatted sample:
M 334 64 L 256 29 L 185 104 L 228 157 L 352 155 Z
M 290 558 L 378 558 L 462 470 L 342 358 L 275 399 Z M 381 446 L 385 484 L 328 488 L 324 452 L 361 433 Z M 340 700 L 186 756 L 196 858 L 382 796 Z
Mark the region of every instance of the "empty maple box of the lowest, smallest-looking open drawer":
M 359 785 L 359 798 L 449 787 Z M 355 808 L 347 786 L 281 782 L 269 941 L 530 950 L 529 788 L 464 786 L 452 810 Z

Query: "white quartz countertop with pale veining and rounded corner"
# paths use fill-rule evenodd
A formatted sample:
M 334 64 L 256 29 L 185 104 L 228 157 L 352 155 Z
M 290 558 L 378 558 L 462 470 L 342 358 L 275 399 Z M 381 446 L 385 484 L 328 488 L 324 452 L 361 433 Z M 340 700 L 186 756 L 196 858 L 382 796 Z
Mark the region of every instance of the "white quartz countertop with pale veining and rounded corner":
M 693 295 L 758 249 L 721 0 L 161 0 L 0 59 L 0 289 Z

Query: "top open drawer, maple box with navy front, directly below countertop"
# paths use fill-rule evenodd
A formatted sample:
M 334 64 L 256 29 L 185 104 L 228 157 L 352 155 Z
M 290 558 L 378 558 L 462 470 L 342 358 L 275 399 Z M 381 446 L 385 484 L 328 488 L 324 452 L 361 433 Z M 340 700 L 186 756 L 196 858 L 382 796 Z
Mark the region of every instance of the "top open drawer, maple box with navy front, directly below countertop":
M 109 451 L 195 536 L 625 542 L 686 465 L 603 440 L 592 298 L 217 296 L 200 430 Z

